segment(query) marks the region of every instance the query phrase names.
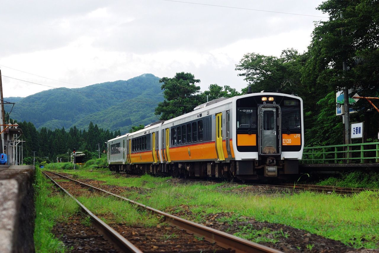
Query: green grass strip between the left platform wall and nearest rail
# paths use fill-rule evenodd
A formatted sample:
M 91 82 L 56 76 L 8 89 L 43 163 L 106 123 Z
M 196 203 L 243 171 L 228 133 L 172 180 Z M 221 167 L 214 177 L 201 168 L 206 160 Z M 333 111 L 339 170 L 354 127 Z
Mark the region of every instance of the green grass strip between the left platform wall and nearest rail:
M 56 222 L 66 220 L 78 211 L 77 203 L 69 196 L 52 193 L 52 185 L 36 168 L 34 182 L 36 208 L 34 247 L 36 252 L 64 252 L 64 246 L 51 233 L 51 230 Z

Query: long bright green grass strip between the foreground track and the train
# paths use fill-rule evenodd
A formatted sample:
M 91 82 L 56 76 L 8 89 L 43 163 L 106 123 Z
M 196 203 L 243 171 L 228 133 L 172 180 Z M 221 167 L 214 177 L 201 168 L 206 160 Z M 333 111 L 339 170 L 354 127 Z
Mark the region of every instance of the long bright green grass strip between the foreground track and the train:
M 352 196 L 307 191 L 293 195 L 255 195 L 225 192 L 222 190 L 225 183 L 172 185 L 166 182 L 170 178 L 149 175 L 116 178 L 106 173 L 75 173 L 109 185 L 151 188 L 145 194 L 127 191 L 125 195 L 159 210 L 188 205 L 193 212 L 188 218 L 197 222 L 204 222 L 204 215 L 209 213 L 233 212 L 232 218 L 225 222 L 231 224 L 241 216 L 253 217 L 257 221 L 303 229 L 355 248 L 378 248 L 379 245 L 378 192 L 360 192 Z

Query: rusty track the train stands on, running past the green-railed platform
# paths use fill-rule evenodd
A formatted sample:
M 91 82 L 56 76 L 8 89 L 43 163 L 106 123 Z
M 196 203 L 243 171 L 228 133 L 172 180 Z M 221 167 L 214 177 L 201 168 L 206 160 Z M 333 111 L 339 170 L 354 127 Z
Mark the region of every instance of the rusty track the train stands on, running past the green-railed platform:
M 114 172 L 114 171 L 93 171 L 93 172 L 111 172 L 112 174 L 118 174 L 118 173 L 127 174 L 126 172 Z M 196 178 L 185 178 L 185 180 L 203 181 L 201 179 L 196 179 Z M 220 182 L 220 181 L 215 181 L 215 182 Z M 288 184 L 277 184 L 277 185 L 260 184 L 260 183 L 237 183 L 237 184 L 274 186 L 274 187 L 282 187 L 282 188 L 303 189 L 303 190 L 317 191 L 317 192 L 335 192 L 335 193 L 340 193 L 340 194 L 353 194 L 353 193 L 359 193 L 362 191 L 379 191 L 378 189 L 349 188 L 349 187 L 321 186 L 321 185 L 304 185 L 304 184 L 295 184 L 294 185 L 294 184 L 290 184 L 290 183 L 288 183 Z

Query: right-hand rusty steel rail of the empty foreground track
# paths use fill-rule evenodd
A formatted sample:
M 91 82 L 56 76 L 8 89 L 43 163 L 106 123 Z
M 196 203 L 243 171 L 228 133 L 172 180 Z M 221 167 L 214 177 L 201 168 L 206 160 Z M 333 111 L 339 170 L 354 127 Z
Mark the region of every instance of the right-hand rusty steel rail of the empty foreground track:
M 53 173 L 55 175 L 58 175 L 60 177 L 66 178 L 72 182 L 78 183 L 81 186 L 89 187 L 89 188 L 91 188 L 97 192 L 105 192 L 106 194 L 110 194 L 114 197 L 126 200 L 126 201 L 128 201 L 128 202 L 130 202 L 130 203 L 132 203 L 138 207 L 141 207 L 143 209 L 147 209 L 153 213 L 156 213 L 160 216 L 163 216 L 165 218 L 165 221 L 168 222 L 169 224 L 174 225 L 175 227 L 177 227 L 179 229 L 184 229 L 184 230 L 186 230 L 187 233 L 194 234 L 194 235 L 200 236 L 200 237 L 204 237 L 204 239 L 206 241 L 211 242 L 211 243 L 215 242 L 217 245 L 219 245 L 222 248 L 235 250 L 235 252 L 237 252 L 237 253 L 244 253 L 244 252 L 280 253 L 280 252 L 282 252 L 282 251 L 279 251 L 279 250 L 276 250 L 273 248 L 269 248 L 269 247 L 264 246 L 264 245 L 257 244 L 255 242 L 247 241 L 247 240 L 242 239 L 240 237 L 233 236 L 231 234 L 216 230 L 214 228 L 206 227 L 204 225 L 197 224 L 195 222 L 182 219 L 182 218 L 174 216 L 172 214 L 164 213 L 164 212 L 159 211 L 159 210 L 152 208 L 150 206 L 146 206 L 144 204 L 135 202 L 134 200 L 127 199 L 125 197 L 119 196 L 119 195 L 114 194 L 112 192 L 108 192 L 108 191 L 105 191 L 103 189 L 97 188 L 95 186 L 88 185 L 86 183 L 77 181 L 75 179 L 66 177 L 64 175 L 60 175 L 58 173 L 51 172 L 51 171 L 49 171 L 49 172 Z

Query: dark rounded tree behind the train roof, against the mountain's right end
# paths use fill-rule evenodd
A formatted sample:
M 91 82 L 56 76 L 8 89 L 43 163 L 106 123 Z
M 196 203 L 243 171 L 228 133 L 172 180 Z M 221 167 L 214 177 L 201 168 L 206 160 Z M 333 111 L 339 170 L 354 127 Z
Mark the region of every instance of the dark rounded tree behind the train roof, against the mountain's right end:
M 201 104 L 200 86 L 196 85 L 200 80 L 191 73 L 176 73 L 173 78 L 164 77 L 159 82 L 163 83 L 161 89 L 164 90 L 164 101 L 158 103 L 155 115 L 160 115 L 160 120 L 191 112 Z

